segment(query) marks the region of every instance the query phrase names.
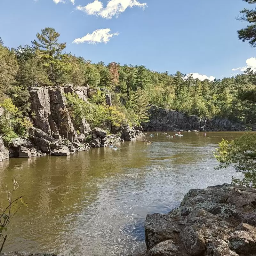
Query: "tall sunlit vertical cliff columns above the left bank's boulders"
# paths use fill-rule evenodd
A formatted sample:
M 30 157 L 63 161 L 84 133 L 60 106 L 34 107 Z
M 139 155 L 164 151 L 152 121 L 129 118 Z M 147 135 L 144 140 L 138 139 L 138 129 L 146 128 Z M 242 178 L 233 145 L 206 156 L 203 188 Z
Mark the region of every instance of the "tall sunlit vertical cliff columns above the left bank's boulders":
M 34 126 L 43 132 L 59 139 L 60 135 L 72 140 L 74 126 L 66 108 L 65 93 L 75 93 L 84 101 L 87 101 L 87 87 L 31 87 L 29 89 L 32 122 Z M 79 130 L 81 133 L 89 134 L 90 125 L 83 120 Z M 75 132 L 75 139 L 77 138 Z

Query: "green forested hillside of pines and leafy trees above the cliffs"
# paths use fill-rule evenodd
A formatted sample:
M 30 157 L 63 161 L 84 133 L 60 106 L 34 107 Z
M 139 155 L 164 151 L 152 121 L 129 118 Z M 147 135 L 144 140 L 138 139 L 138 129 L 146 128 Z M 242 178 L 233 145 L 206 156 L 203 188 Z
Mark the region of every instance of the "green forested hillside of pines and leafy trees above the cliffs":
M 1 134 L 22 135 L 32 124 L 29 87 L 88 85 L 109 90 L 112 106 L 105 103 L 100 91 L 83 103 L 84 117 L 92 126 L 138 125 L 148 120 L 148 104 L 183 111 L 190 115 L 225 117 L 244 124 L 255 124 L 256 106 L 246 93 L 255 90 L 256 74 L 247 69 L 244 74 L 200 81 L 181 72 L 174 75 L 147 69 L 144 65 L 124 65 L 111 62 L 93 64 L 91 60 L 65 52 L 54 28 L 44 28 L 30 45 L 9 49 L 0 41 L 0 106 Z M 68 109 L 75 115 L 75 106 L 82 103 L 75 95 L 67 95 Z M 80 104 L 81 103 L 81 104 Z M 81 113 L 79 113 L 81 115 Z M 15 132 L 15 133 L 14 133 Z

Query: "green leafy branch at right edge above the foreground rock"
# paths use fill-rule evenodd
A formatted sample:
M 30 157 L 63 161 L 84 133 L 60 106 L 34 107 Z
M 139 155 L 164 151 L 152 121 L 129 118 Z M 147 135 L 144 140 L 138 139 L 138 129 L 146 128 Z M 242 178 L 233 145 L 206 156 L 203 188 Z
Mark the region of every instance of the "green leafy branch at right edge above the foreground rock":
M 232 177 L 233 184 L 256 188 L 256 133 L 247 132 L 228 142 L 222 139 L 214 152 L 219 166 L 216 169 L 233 166 L 236 172 L 244 174 L 243 179 Z

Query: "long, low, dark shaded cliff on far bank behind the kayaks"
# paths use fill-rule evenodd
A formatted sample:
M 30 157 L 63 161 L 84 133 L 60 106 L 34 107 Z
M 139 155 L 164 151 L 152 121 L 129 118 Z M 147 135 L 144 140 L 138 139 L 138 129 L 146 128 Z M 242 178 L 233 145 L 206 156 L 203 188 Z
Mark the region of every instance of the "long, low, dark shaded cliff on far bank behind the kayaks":
M 150 105 L 149 122 L 142 124 L 144 131 L 245 131 L 246 127 L 226 118 L 188 116 L 183 112 Z M 255 127 L 256 128 L 256 127 Z

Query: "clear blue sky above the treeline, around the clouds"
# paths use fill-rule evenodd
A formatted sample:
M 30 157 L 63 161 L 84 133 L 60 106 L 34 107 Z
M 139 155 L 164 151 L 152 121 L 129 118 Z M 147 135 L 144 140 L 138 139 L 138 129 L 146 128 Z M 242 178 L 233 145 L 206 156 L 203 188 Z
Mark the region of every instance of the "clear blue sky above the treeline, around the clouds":
M 237 38 L 236 30 L 246 26 L 235 19 L 248 6 L 242 0 L 108 2 L 0 0 L 0 37 L 8 47 L 31 44 L 48 26 L 67 42 L 67 52 L 94 63 L 116 61 L 216 78 L 241 73 L 246 66 L 256 68 L 256 50 Z M 75 39 L 84 43 L 72 43 Z

